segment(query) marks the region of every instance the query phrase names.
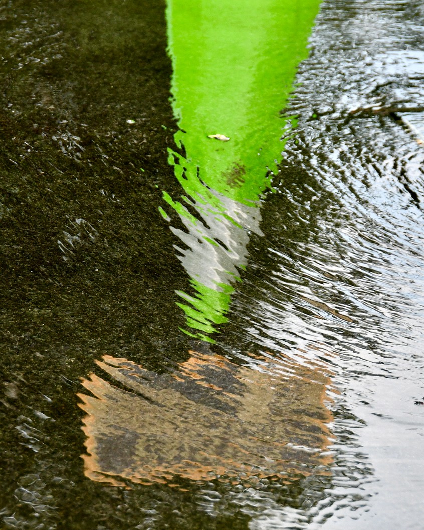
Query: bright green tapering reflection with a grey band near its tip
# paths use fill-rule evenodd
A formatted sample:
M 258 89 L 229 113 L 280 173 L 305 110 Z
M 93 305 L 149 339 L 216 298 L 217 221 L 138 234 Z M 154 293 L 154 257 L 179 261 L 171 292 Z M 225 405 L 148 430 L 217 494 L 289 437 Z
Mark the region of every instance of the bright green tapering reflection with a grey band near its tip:
M 184 195 L 164 199 L 187 229 L 171 227 L 195 293 L 179 293 L 186 332 L 204 340 L 226 321 L 249 232 L 260 234 L 259 200 L 290 125 L 279 111 L 307 55 L 319 3 L 167 0 L 173 109 L 182 129 L 175 140 L 185 157 L 170 151 Z M 230 139 L 208 138 L 216 134 Z

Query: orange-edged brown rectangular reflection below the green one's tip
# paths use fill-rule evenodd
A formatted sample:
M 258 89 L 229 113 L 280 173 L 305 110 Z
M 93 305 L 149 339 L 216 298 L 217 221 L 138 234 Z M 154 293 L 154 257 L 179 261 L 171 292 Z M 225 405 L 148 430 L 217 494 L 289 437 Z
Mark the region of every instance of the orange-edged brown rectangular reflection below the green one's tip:
M 190 354 L 161 375 L 127 359 L 98 361 L 120 387 L 95 374 L 83 381 L 92 394 L 79 394 L 89 478 L 115 485 L 176 477 L 245 484 L 329 464 L 326 376 L 288 360 L 261 357 L 238 366 Z

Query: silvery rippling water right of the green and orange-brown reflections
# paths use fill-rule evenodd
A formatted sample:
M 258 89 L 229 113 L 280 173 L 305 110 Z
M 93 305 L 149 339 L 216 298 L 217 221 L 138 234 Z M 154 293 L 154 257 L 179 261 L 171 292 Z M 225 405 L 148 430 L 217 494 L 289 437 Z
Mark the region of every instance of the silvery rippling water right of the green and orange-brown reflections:
M 402 109 L 424 102 L 422 14 L 324 4 L 298 76 L 296 141 L 235 302 L 242 348 L 301 350 L 333 372 L 341 476 L 310 512 L 317 525 L 331 515 L 329 528 L 421 524 L 423 122 Z M 296 518 L 275 510 L 258 527 Z

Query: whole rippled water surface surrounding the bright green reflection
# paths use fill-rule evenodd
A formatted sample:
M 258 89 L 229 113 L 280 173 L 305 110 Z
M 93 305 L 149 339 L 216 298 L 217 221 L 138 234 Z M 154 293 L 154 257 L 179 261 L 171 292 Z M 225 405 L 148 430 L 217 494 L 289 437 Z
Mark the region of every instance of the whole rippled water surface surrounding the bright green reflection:
M 0 6 L 2 527 L 422 528 L 422 4 L 322 4 L 215 345 L 165 6 Z

